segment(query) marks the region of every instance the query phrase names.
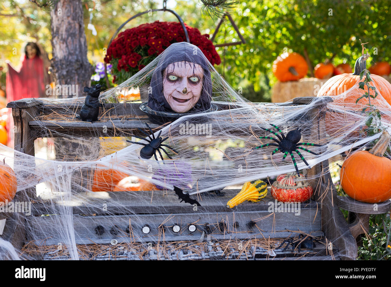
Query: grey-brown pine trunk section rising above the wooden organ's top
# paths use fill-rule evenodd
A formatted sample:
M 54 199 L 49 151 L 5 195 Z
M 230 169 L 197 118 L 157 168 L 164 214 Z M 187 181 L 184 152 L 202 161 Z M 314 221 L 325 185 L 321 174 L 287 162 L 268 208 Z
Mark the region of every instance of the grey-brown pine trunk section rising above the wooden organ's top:
M 54 81 L 56 85 L 78 85 L 77 96 L 83 96 L 84 87 L 91 84 L 93 67 L 87 59 L 81 0 L 59 0 L 50 16 Z M 62 97 L 69 98 L 72 95 Z

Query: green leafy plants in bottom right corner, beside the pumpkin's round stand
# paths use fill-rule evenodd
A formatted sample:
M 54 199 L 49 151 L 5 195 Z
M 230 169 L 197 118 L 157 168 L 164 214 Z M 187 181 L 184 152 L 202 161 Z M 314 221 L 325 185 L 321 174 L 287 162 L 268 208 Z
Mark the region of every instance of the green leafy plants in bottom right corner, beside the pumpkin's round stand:
M 391 221 L 390 214 L 369 216 L 369 238 L 362 237 L 362 247 L 358 248 L 359 260 L 391 259 Z

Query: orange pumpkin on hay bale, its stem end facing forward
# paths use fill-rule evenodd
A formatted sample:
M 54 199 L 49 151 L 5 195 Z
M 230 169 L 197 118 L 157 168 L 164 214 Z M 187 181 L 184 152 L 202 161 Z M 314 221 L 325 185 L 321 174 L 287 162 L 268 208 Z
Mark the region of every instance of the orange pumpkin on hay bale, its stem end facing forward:
M 285 52 L 273 62 L 273 74 L 281 82 L 297 81 L 307 75 L 308 65 L 298 53 Z

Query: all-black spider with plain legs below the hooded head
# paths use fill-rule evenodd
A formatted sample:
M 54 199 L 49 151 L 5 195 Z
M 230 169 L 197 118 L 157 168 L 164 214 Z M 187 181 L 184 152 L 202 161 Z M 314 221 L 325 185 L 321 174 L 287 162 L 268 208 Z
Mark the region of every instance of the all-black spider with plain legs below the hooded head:
M 170 155 L 166 152 L 166 150 L 164 148 L 162 148 L 162 146 L 165 146 L 167 148 L 169 148 L 170 150 L 174 151 L 175 153 L 178 153 L 176 150 L 174 150 L 172 147 L 168 146 L 167 144 L 162 144 L 166 139 L 168 139 L 169 137 L 165 137 L 164 139 L 162 139 L 160 137 L 160 134 L 161 134 L 161 131 L 159 132 L 158 136 L 155 138 L 153 132 L 152 132 L 152 129 L 149 127 L 149 125 L 147 123 L 145 123 L 145 125 L 147 125 L 147 127 L 149 128 L 149 131 L 151 132 L 152 134 L 152 137 L 151 135 L 147 134 L 146 132 L 144 132 L 143 130 L 141 130 L 140 128 L 138 128 L 143 134 L 147 135 L 147 137 L 149 138 L 146 138 L 146 137 L 137 137 L 136 135 L 133 135 L 134 137 L 137 137 L 138 139 L 143 139 L 145 141 L 148 142 L 148 144 L 145 144 L 145 143 L 140 143 L 140 142 L 134 142 L 134 141 L 127 141 L 129 143 L 135 143 L 135 144 L 142 144 L 144 147 L 140 150 L 140 157 L 142 157 L 143 159 L 150 159 L 152 157 L 152 155 L 155 156 L 155 159 L 158 160 L 158 157 L 156 156 L 156 151 L 158 151 L 160 157 L 162 160 L 163 159 L 163 155 L 161 155 L 161 152 L 160 150 L 162 150 L 168 157 L 169 159 L 172 159 L 172 157 L 170 157 Z M 159 150 L 160 149 L 160 150 Z

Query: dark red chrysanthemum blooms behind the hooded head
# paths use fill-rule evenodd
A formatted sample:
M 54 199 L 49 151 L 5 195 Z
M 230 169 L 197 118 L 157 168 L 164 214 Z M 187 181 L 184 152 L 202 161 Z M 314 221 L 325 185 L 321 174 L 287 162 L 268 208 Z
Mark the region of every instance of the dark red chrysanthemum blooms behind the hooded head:
M 220 64 L 220 56 L 209 40 L 209 35 L 201 35 L 198 29 L 186 24 L 185 26 L 190 43 L 198 46 L 212 65 Z M 118 34 L 110 44 L 104 61 L 113 65 L 113 82 L 122 83 L 144 68 L 168 46 L 183 41 L 185 32 L 181 23 L 155 21 L 142 24 Z

